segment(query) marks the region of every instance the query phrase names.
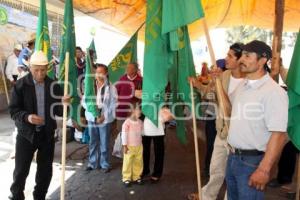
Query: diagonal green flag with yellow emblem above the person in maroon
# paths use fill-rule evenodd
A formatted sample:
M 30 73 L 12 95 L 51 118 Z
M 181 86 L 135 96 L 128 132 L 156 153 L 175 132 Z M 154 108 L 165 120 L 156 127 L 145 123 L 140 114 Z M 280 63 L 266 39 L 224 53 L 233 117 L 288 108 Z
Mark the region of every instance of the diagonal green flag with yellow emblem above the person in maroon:
M 138 31 L 130 38 L 116 57 L 108 65 L 109 79 L 112 83 L 119 80 L 125 74 L 128 63 L 137 61 L 137 38 Z

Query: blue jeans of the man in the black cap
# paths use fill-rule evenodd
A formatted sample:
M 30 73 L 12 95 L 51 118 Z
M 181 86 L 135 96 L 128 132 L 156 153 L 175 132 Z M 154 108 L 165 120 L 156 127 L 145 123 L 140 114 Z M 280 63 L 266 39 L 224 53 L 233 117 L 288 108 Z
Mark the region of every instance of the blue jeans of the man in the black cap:
M 226 184 L 228 200 L 262 200 L 264 192 L 248 185 L 263 155 L 243 156 L 230 154 L 227 161 Z

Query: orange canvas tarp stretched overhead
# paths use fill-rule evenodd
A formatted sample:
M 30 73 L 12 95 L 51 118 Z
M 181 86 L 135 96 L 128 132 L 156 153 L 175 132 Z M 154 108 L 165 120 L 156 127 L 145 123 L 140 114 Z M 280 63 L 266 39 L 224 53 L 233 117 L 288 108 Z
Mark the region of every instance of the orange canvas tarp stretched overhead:
M 274 26 L 275 0 L 202 0 L 202 5 L 209 29 L 238 25 L 273 29 Z M 74 0 L 74 7 L 128 35 L 135 32 L 146 16 L 146 0 Z M 284 31 L 298 31 L 300 1 L 285 0 L 284 10 Z M 192 39 L 202 35 L 201 21 L 190 25 L 189 32 Z

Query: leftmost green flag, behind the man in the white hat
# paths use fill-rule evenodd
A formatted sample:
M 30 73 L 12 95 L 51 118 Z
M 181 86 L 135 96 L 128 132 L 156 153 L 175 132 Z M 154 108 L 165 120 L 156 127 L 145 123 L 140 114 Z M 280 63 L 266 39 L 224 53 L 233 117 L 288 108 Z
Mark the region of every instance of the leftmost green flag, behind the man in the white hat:
M 48 29 L 48 16 L 45 0 L 40 0 L 39 21 L 36 31 L 35 51 L 43 51 L 49 62 L 52 60 L 52 51 L 50 47 L 50 37 Z M 48 76 L 54 79 L 53 64 L 48 66 Z

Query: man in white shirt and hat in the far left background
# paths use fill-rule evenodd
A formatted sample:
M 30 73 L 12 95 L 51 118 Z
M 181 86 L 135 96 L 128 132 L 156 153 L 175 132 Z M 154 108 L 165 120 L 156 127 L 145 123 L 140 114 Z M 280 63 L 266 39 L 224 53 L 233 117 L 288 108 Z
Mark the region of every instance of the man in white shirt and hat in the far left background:
M 20 44 L 16 44 L 14 46 L 13 53 L 7 58 L 7 65 L 5 74 L 7 79 L 14 85 L 17 81 L 19 71 L 18 71 L 18 57 L 22 50 L 22 46 Z

